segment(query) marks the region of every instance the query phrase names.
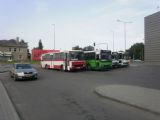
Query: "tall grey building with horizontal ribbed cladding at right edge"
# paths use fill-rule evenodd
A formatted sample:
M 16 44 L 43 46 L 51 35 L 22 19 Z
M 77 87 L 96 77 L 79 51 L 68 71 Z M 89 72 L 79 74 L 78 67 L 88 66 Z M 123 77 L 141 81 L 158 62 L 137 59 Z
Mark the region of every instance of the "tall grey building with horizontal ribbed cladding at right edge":
M 145 62 L 160 63 L 160 12 L 145 17 Z

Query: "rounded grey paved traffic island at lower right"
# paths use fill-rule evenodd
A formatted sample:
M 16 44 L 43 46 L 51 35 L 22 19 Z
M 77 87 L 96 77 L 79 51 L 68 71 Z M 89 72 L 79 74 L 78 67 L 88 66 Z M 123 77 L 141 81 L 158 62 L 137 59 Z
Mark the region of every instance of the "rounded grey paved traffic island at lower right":
M 105 98 L 160 114 L 160 90 L 130 85 L 106 85 L 95 89 Z

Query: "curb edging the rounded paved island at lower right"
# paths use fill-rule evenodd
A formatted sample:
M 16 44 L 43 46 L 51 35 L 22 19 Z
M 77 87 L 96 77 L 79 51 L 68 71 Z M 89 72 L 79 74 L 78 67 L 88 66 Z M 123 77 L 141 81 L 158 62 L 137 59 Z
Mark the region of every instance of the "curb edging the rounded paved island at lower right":
M 148 109 L 148 108 L 145 108 L 145 107 L 142 107 L 142 106 L 133 104 L 133 103 L 125 102 L 125 101 L 122 101 L 122 100 L 119 100 L 119 99 L 116 99 L 116 98 L 113 98 L 113 97 L 110 97 L 110 96 L 103 95 L 103 94 L 101 94 L 101 92 L 98 90 L 98 88 L 95 88 L 95 89 L 94 89 L 94 93 L 97 94 L 97 95 L 100 96 L 100 97 L 109 99 L 109 100 L 111 100 L 111 101 L 115 101 L 115 102 L 118 102 L 118 103 L 121 103 L 121 104 L 125 104 L 125 105 L 128 105 L 128 106 L 137 108 L 137 109 L 144 110 L 144 111 L 146 111 L 146 112 L 150 112 L 150 113 L 153 113 L 153 114 L 156 114 L 156 115 L 160 115 L 160 112 L 154 111 L 154 110 L 152 110 L 152 109 Z

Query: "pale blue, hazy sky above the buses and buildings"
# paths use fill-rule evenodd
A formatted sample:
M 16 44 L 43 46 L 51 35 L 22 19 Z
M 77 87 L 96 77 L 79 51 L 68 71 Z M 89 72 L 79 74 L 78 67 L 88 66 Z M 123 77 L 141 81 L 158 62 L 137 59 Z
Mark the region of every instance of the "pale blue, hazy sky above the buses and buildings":
M 124 50 L 124 33 L 126 49 L 144 42 L 144 17 L 158 6 L 160 0 L 0 0 L 0 40 L 20 37 L 30 50 L 40 39 L 44 49 L 54 49 L 55 40 L 58 50 L 94 42 L 97 49 Z M 126 32 L 117 20 L 129 22 Z

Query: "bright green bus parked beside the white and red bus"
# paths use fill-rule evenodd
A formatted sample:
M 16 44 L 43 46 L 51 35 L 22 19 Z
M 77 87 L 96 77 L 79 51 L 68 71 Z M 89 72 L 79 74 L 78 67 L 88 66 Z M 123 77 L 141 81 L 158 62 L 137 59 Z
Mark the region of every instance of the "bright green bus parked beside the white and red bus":
M 84 51 L 87 70 L 109 70 L 112 68 L 110 50 Z

